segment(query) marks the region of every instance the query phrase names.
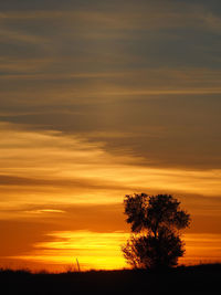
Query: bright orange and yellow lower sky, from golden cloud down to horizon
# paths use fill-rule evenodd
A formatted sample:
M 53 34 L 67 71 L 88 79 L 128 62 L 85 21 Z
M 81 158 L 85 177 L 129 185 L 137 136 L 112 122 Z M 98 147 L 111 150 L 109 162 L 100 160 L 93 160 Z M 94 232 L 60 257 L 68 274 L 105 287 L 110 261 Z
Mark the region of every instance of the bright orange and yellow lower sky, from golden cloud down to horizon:
M 6 123 L 1 135 L 2 265 L 125 267 L 123 199 L 135 191 L 172 192 L 192 215 L 185 262 L 219 261 L 221 170 L 149 168 L 101 143 Z

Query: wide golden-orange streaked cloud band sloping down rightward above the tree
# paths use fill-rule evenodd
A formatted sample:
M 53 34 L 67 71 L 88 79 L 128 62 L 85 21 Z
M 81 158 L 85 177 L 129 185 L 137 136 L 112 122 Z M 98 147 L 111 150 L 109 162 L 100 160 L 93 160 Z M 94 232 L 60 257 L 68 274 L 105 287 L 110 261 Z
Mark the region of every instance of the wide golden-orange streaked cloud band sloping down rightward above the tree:
M 1 127 L 1 203 L 116 203 L 134 191 L 219 196 L 220 169 L 141 165 L 143 158 L 59 131 Z M 139 165 L 140 162 L 140 165 Z M 49 207 L 50 208 L 50 207 Z M 45 208 L 46 209 L 46 208 Z

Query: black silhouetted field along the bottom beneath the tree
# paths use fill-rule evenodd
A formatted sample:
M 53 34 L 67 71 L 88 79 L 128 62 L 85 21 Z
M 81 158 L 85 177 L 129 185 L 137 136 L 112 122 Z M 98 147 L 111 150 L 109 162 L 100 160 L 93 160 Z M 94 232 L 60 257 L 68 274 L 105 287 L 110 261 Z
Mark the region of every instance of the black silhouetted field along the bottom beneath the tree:
M 90 271 L 32 274 L 0 271 L 0 294 L 221 294 L 221 264 L 165 272 Z

